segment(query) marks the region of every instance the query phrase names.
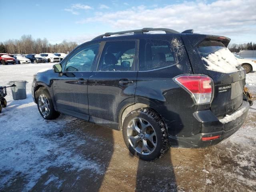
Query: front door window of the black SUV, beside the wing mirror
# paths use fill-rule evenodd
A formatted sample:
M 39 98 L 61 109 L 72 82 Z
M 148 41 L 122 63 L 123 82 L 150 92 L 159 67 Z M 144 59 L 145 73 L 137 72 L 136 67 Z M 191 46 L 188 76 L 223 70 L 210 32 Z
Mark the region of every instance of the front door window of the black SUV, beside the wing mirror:
M 67 60 L 66 72 L 90 71 L 97 57 L 100 44 L 88 45 L 71 54 Z

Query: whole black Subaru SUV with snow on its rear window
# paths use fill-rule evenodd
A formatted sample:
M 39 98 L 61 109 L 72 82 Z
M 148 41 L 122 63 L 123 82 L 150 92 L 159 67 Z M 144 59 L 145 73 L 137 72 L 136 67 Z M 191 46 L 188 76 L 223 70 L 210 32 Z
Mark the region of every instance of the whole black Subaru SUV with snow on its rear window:
M 166 34 L 148 34 L 159 30 Z M 166 28 L 106 33 L 35 74 L 32 96 L 45 119 L 61 112 L 122 130 L 143 160 L 169 146 L 211 146 L 234 134 L 249 109 L 246 73 L 229 42 Z

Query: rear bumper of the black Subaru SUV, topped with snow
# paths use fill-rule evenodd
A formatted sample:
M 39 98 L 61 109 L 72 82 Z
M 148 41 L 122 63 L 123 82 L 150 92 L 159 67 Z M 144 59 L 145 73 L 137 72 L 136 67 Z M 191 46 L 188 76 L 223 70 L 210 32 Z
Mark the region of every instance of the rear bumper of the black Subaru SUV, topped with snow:
M 249 110 L 249 103 L 246 101 L 242 102 L 242 105 L 234 111 L 229 116 L 233 116 L 234 118 L 229 118 L 226 120 L 225 118 L 218 120 L 215 118 L 210 117 L 209 111 L 201 111 L 201 114 L 196 114 L 197 119 L 201 121 L 202 130 L 212 130 L 211 132 L 201 132 L 198 134 L 194 134 L 190 137 L 176 137 L 176 136 L 169 136 L 170 145 L 172 147 L 182 147 L 182 148 L 204 148 L 208 146 L 212 146 L 218 144 L 222 140 L 228 138 L 232 134 L 234 134 L 245 122 L 246 116 Z M 206 114 L 202 114 L 206 113 Z M 196 116 L 195 115 L 195 116 Z M 212 114 L 213 115 L 213 114 Z M 204 121 L 202 118 L 207 116 L 207 120 L 212 119 L 210 121 Z M 227 122 L 228 121 L 228 122 Z M 222 123 L 225 122 L 225 123 Z M 212 136 L 220 136 L 218 139 L 209 140 L 209 141 L 202 141 L 202 137 L 212 137 Z

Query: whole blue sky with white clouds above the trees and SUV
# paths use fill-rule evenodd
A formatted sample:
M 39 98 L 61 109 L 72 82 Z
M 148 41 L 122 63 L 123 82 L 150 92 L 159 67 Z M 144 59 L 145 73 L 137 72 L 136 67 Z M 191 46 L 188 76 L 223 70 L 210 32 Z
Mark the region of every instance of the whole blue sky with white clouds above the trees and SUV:
M 10 14 L 6 8 L 11 8 Z M 232 42 L 256 42 L 255 0 L 12 0 L 0 5 L 0 42 L 23 34 L 82 43 L 105 32 L 143 27 L 217 34 Z

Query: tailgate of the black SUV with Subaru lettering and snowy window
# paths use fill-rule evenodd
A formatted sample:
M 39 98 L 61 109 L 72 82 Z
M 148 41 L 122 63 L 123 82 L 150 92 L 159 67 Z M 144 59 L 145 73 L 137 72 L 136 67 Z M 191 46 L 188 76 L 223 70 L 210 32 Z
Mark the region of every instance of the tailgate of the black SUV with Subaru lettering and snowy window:
M 205 38 L 195 49 L 201 56 L 208 74 L 214 81 L 214 98 L 211 111 L 222 118 L 238 109 L 243 101 L 245 70 L 226 48 L 224 37 Z

